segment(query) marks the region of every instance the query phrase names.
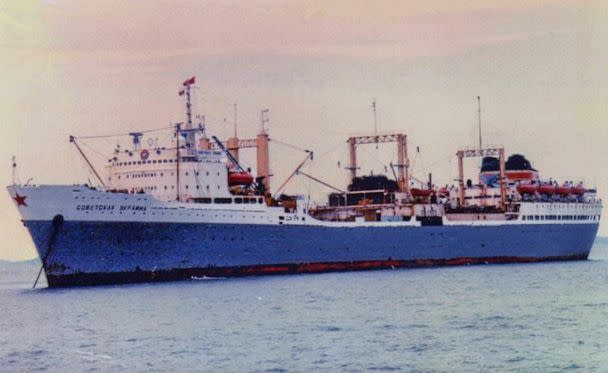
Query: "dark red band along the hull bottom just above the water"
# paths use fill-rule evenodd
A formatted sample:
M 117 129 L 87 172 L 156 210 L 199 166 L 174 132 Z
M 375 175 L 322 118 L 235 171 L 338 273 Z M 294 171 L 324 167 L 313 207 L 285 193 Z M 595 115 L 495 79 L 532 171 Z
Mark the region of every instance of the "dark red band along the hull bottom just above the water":
M 371 260 L 360 262 L 273 264 L 243 267 L 180 268 L 156 271 L 74 273 L 47 275 L 49 287 L 115 285 L 141 282 L 183 281 L 202 277 L 242 277 L 300 273 L 346 272 L 393 268 L 422 268 L 468 264 L 535 263 L 586 260 L 586 255 L 533 257 L 487 257 L 419 260 Z

